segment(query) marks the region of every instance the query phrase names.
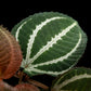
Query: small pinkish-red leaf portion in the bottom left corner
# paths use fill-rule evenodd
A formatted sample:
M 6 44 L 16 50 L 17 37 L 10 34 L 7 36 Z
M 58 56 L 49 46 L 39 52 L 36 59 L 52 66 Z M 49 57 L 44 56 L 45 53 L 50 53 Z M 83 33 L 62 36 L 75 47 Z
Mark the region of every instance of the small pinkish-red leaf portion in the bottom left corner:
M 0 91 L 17 91 L 17 90 L 9 86 L 8 83 L 0 81 Z

